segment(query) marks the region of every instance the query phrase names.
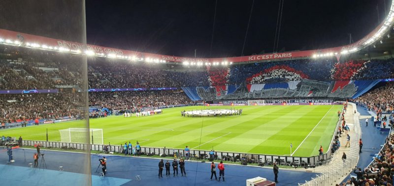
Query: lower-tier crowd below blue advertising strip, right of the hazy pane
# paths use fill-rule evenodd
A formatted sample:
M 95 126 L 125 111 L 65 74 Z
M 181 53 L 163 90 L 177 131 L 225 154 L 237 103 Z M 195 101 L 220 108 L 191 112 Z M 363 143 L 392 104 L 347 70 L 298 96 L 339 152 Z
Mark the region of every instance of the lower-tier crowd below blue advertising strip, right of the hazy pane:
M 89 93 L 89 106 L 105 107 L 110 110 L 133 110 L 142 107 L 193 103 L 184 92 L 176 90 Z

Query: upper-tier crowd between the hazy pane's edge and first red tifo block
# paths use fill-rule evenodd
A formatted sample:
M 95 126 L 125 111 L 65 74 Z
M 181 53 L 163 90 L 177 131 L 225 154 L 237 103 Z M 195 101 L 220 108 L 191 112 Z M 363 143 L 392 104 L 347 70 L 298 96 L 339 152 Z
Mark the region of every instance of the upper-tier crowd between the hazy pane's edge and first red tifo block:
M 208 73 L 179 71 L 167 64 L 134 64 L 125 61 L 89 63 L 90 88 L 206 86 Z M 184 69 L 181 69 L 184 70 Z

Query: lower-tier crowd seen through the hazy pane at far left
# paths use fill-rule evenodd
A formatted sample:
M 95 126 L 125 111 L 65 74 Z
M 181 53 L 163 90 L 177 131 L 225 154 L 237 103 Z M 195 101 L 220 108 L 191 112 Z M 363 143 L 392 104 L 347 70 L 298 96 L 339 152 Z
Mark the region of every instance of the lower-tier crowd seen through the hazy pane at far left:
M 79 118 L 83 115 L 84 97 L 79 93 L 11 94 L 0 98 L 0 122 L 57 119 L 64 116 Z

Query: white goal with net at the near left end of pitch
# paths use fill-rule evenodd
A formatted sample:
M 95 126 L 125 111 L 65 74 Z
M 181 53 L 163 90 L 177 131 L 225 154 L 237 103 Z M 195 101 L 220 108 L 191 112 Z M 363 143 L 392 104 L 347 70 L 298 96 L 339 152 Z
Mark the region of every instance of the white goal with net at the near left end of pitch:
M 59 132 L 62 142 L 87 143 L 90 140 L 91 144 L 104 144 L 102 129 L 68 128 L 59 130 Z

